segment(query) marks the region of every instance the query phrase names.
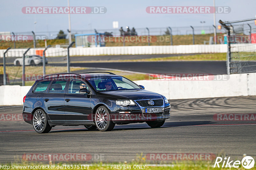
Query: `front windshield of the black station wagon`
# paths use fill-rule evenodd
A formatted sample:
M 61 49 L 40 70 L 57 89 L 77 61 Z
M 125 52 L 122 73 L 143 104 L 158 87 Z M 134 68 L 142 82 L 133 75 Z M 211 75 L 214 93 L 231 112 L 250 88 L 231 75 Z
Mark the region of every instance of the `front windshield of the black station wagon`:
M 92 77 L 86 79 L 97 91 L 141 89 L 132 81 L 121 76 Z

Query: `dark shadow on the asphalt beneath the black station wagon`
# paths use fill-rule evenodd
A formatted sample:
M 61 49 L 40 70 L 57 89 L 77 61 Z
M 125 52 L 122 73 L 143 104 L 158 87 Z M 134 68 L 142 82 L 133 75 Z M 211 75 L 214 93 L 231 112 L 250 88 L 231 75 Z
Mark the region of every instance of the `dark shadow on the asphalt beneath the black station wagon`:
M 163 126 L 159 128 L 170 128 L 170 127 L 177 127 L 177 126 L 198 126 L 198 125 L 210 125 L 216 124 L 215 122 L 211 121 L 188 121 L 188 122 L 165 122 Z M 116 126 L 112 131 L 124 131 L 124 130 L 136 130 L 136 129 L 152 129 L 147 124 L 130 124 L 130 125 L 119 125 Z M 157 129 L 157 128 L 154 128 Z M 67 132 L 67 131 L 99 131 L 98 129 L 65 129 L 65 130 L 53 130 L 50 133 L 56 132 Z

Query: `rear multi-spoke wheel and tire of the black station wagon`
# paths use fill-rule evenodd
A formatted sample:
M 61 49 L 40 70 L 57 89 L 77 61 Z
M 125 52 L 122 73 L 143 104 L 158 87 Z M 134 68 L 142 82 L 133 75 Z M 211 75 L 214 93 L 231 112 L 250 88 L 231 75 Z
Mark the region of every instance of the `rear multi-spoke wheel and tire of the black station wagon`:
M 33 114 L 32 124 L 37 133 L 48 133 L 52 127 L 48 124 L 44 110 L 38 109 Z

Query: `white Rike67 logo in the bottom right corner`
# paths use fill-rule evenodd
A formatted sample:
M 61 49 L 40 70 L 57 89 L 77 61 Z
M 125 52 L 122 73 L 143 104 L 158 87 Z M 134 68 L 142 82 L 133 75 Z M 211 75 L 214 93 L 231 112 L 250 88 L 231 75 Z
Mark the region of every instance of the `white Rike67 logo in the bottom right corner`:
M 222 162 L 223 161 L 223 162 Z M 222 167 L 222 168 L 231 168 L 231 167 L 235 167 L 238 168 L 240 165 L 242 164 L 242 166 L 245 169 L 251 169 L 252 167 L 254 167 L 254 159 L 251 156 L 245 156 L 242 161 L 240 160 L 230 160 L 230 157 L 225 157 L 224 159 L 221 157 L 217 157 L 214 163 L 214 168 L 217 166 Z

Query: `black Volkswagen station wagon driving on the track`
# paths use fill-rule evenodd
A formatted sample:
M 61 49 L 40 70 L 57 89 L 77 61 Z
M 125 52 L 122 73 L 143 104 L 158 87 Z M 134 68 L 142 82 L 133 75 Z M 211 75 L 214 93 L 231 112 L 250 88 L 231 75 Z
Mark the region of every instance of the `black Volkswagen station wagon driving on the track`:
M 171 116 L 166 97 L 110 72 L 46 75 L 23 103 L 23 119 L 37 133 L 56 125 L 111 131 L 115 124 L 146 122 L 155 128 Z

